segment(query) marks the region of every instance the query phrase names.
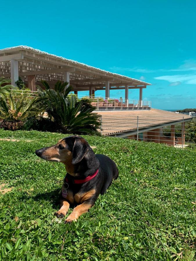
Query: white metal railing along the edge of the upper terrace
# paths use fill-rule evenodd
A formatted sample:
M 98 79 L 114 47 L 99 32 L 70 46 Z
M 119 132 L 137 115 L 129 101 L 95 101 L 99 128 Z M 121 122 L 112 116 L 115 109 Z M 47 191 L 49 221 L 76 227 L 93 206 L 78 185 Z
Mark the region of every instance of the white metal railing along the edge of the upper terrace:
M 12 90 L 12 93 L 16 95 L 26 95 L 28 97 L 35 97 L 37 91 L 30 90 Z M 78 99 L 88 99 L 95 110 L 150 110 L 152 107 L 151 101 L 136 100 L 136 99 L 115 99 L 115 98 L 103 98 L 85 95 L 75 95 Z

